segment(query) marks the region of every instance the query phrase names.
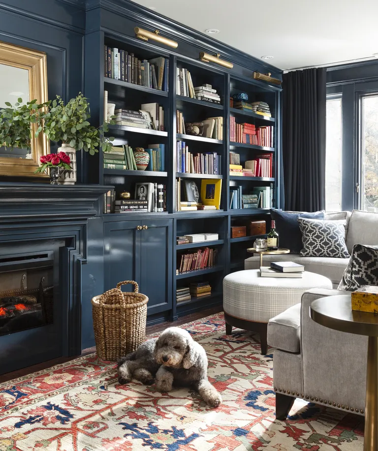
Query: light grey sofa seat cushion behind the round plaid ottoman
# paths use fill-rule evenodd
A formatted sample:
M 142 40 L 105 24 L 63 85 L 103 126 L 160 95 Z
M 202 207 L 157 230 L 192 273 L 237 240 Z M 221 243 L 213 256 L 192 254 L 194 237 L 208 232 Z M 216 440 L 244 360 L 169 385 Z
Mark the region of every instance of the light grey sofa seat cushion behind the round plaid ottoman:
M 270 262 L 294 262 L 305 266 L 305 271 L 316 272 L 317 274 L 328 277 L 337 288 L 344 270 L 349 262 L 348 258 L 331 257 L 301 257 L 300 255 L 264 255 L 262 262 L 264 266 L 269 266 Z M 255 270 L 260 267 L 260 258 L 258 256 L 249 257 L 244 261 L 246 270 Z

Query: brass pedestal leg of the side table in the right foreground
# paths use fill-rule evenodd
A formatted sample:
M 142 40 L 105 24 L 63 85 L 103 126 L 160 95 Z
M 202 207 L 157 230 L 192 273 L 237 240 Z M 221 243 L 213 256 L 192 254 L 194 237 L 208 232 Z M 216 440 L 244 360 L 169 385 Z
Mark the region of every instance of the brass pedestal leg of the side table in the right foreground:
M 378 451 L 378 337 L 369 337 L 364 451 Z

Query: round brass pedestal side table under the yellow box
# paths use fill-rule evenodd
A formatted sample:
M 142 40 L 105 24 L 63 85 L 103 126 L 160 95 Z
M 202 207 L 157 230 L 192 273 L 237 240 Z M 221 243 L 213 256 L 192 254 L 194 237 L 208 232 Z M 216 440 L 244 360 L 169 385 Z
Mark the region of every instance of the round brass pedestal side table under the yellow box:
M 378 315 L 352 310 L 349 295 L 320 298 L 310 304 L 315 323 L 335 331 L 367 335 L 364 451 L 378 451 Z

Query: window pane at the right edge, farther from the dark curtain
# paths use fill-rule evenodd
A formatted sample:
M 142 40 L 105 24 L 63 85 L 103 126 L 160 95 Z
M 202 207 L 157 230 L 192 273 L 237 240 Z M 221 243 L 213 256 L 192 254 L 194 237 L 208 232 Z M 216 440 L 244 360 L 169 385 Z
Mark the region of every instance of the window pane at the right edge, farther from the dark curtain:
M 378 94 L 361 102 L 361 208 L 378 212 Z

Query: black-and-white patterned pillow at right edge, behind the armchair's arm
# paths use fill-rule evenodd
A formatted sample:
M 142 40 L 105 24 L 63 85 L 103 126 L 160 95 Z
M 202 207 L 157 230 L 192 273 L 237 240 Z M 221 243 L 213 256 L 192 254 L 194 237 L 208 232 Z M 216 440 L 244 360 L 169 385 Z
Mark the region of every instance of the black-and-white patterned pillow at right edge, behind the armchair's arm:
M 354 244 L 338 290 L 355 291 L 364 285 L 378 285 L 378 246 Z

